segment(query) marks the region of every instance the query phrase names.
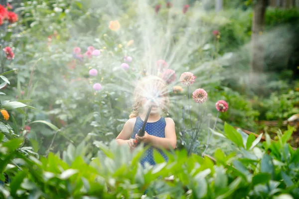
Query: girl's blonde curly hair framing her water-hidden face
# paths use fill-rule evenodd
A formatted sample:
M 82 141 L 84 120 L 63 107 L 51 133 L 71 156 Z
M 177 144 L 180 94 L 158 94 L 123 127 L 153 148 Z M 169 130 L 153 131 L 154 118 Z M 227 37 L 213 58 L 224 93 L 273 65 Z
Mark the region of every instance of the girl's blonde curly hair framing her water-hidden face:
M 129 118 L 135 118 L 139 116 L 141 112 L 141 101 L 142 98 L 145 97 L 145 92 L 147 90 L 158 90 L 159 93 L 164 98 L 164 103 L 163 103 L 163 113 L 168 114 L 168 108 L 169 108 L 169 99 L 168 99 L 168 94 L 167 94 L 167 86 L 165 84 L 165 81 L 157 76 L 146 76 L 141 78 L 137 86 L 134 90 L 134 103 L 133 103 L 133 111 L 131 112 Z

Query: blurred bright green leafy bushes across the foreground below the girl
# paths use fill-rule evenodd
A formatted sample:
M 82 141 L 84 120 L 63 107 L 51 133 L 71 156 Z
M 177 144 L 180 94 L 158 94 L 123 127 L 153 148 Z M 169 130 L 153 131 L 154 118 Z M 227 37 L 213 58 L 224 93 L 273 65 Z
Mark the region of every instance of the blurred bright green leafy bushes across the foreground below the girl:
M 0 146 L 1 174 L 10 183 L 0 186 L 3 198 L 298 198 L 299 149 L 294 151 L 287 141 L 293 131 L 266 142 L 238 132 L 225 124 L 224 136 L 237 146 L 237 151 L 214 153 L 216 162 L 186 151 L 167 153 L 169 162 L 155 153 L 157 165 L 142 169 L 141 148 L 132 154 L 127 146 L 111 142 L 108 148 L 94 141 L 101 149 L 93 159 L 85 156 L 85 143 L 77 148 L 69 145 L 63 158 L 50 153 L 47 158 L 25 157 L 18 150 L 22 140 L 12 139 Z M 1 139 L 3 138 L 1 134 Z M 165 178 L 172 176 L 173 181 Z

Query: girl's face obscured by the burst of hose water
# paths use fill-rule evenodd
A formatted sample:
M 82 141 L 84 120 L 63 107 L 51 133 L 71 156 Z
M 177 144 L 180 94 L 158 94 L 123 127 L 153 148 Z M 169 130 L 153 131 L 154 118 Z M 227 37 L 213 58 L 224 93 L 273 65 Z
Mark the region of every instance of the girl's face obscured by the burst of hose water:
M 141 106 L 144 112 L 148 112 L 151 107 L 150 114 L 160 113 L 164 106 L 164 96 L 160 93 L 147 93 L 142 95 Z

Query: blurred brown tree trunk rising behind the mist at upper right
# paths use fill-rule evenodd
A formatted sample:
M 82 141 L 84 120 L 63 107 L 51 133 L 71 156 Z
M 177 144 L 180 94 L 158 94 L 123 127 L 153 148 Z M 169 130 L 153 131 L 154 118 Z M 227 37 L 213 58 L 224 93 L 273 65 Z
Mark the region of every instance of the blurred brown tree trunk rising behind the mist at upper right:
M 251 28 L 251 69 L 253 73 L 260 73 L 264 68 L 264 46 L 260 40 L 265 25 L 265 12 L 268 0 L 257 0 L 254 5 Z

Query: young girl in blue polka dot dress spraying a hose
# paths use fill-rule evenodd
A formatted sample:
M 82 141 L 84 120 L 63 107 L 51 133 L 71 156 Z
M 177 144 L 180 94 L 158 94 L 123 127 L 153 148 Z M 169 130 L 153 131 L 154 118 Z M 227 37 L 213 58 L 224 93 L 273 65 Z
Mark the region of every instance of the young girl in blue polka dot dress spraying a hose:
M 128 144 L 131 150 L 134 150 L 137 146 L 134 144 L 134 139 L 138 143 L 144 143 L 145 146 L 150 145 L 141 160 L 143 166 L 146 162 L 149 165 L 155 165 L 153 149 L 156 149 L 167 161 L 166 155 L 160 149 L 170 150 L 176 147 L 173 120 L 160 116 L 162 112 L 167 112 L 168 105 L 167 88 L 161 78 L 147 76 L 138 82 L 134 91 L 133 112 L 116 140 L 120 145 Z M 152 106 L 152 108 L 145 127 L 146 132 L 143 137 L 140 137 L 137 133 L 142 128 L 149 106 Z

